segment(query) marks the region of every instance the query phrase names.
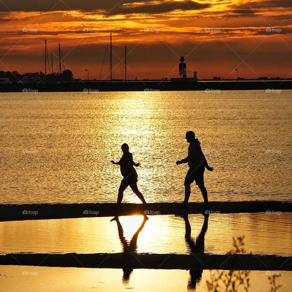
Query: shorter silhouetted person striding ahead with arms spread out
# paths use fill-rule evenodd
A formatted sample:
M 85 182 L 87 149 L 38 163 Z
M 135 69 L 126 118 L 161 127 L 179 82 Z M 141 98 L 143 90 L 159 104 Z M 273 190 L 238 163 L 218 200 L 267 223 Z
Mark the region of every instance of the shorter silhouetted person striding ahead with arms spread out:
M 123 200 L 124 190 L 127 189 L 128 186 L 131 187 L 133 192 L 142 201 L 142 203 L 144 205 L 146 205 L 146 201 L 145 201 L 143 195 L 141 194 L 141 192 L 139 192 L 139 189 L 137 186 L 138 175 L 137 175 L 136 170 L 133 167 L 133 165 L 140 166 L 141 163 L 140 162 L 135 163 L 133 161 L 133 154 L 129 152 L 129 145 L 128 144 L 124 143 L 122 145 L 122 151 L 123 151 L 123 156 L 119 162 L 114 162 L 113 160 L 111 160 L 111 163 L 116 164 L 116 165 L 120 165 L 121 174 L 123 176 L 123 179 L 121 181 L 120 188 L 119 188 L 116 208 L 119 209 L 120 203 Z

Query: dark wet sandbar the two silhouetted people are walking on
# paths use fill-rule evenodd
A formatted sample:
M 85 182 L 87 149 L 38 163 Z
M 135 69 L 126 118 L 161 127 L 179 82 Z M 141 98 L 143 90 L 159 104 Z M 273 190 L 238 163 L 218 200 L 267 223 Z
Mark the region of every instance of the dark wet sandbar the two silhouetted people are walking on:
M 178 209 L 176 203 L 142 204 L 123 203 L 117 212 L 113 203 L 78 203 L 78 204 L 23 204 L 0 205 L 0 221 L 113 217 L 125 215 L 170 215 L 170 214 L 202 214 L 201 203 L 189 203 L 188 209 Z M 269 213 L 292 212 L 292 202 L 280 201 L 242 201 L 242 202 L 210 202 L 210 214 L 231 213 Z

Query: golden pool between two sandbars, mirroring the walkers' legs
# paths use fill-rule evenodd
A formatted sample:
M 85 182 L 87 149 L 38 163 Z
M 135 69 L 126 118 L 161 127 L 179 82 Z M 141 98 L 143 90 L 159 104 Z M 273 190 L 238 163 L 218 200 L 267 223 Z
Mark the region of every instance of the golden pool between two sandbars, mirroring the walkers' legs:
M 118 253 L 124 238 L 130 244 L 139 230 L 134 252 L 210 253 L 233 250 L 233 237 L 245 235 L 245 251 L 253 254 L 292 255 L 292 214 L 189 215 L 190 240 L 185 240 L 187 222 L 174 215 L 109 217 L 0 222 L 0 253 Z M 203 226 L 205 220 L 205 224 Z M 143 225 L 142 225 L 143 224 Z M 139 228 L 141 227 L 141 228 Z M 201 240 L 197 240 L 201 234 Z M 203 236 L 202 236 L 203 235 Z M 123 238 L 122 238 L 123 237 Z M 125 250 L 129 251 L 129 250 Z

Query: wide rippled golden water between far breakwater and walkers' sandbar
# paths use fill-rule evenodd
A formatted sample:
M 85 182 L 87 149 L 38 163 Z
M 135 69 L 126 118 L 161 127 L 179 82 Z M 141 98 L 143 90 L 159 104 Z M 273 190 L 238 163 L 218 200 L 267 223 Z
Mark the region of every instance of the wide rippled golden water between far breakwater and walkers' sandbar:
M 127 142 L 149 202 L 182 200 L 184 136 L 210 200 L 291 200 L 291 90 L 0 93 L 0 203 L 113 202 Z M 193 188 L 191 201 L 202 200 Z M 126 190 L 124 202 L 139 202 Z

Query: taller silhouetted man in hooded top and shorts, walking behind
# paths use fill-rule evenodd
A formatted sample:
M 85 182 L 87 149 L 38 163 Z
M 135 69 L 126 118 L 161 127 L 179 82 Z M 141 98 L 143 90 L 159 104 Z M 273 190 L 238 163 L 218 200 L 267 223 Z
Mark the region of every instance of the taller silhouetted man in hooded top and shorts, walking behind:
M 193 131 L 186 132 L 186 141 L 189 143 L 188 157 L 176 162 L 176 165 L 182 163 L 188 163 L 189 165 L 189 171 L 187 172 L 185 178 L 185 200 L 181 204 L 177 204 L 176 207 L 183 209 L 188 207 L 189 196 L 191 194 L 191 183 L 195 181 L 204 198 L 204 203 L 199 208 L 207 209 L 210 206 L 208 202 L 207 189 L 204 185 L 204 172 L 205 167 L 209 171 L 213 171 L 214 168 L 208 165 L 200 146 L 201 143 L 195 138 L 195 133 Z

